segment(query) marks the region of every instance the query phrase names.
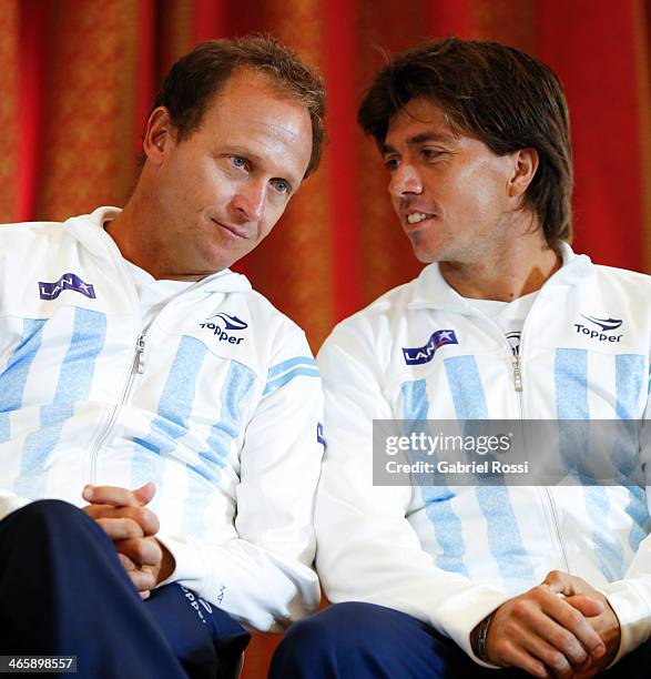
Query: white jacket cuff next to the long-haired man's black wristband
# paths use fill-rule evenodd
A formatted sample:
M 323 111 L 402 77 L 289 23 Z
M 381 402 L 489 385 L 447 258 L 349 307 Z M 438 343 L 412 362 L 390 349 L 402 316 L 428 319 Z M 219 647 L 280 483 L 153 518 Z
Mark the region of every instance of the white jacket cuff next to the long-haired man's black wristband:
M 452 641 L 460 646 L 477 665 L 491 669 L 499 669 L 496 665 L 485 662 L 475 655 L 472 646 L 470 645 L 470 632 L 481 620 L 484 620 L 484 618 L 486 618 L 486 616 L 490 615 L 510 598 L 511 597 L 507 596 L 503 591 L 488 585 L 479 590 L 474 588 L 471 592 L 462 597 L 455 597 L 454 601 L 450 601 L 449 610 L 437 610 L 437 615 L 433 617 L 433 622 L 436 625 L 437 620 L 446 620 L 445 632 Z M 447 606 L 445 606 L 444 609 L 447 609 Z

